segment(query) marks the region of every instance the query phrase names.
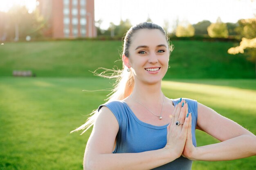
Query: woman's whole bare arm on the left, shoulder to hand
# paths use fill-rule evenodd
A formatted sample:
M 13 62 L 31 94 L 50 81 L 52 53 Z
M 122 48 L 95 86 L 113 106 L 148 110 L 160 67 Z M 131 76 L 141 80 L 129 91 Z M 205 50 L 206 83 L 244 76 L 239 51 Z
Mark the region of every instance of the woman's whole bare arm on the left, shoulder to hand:
M 189 120 L 186 119 L 183 128 L 183 135 L 177 135 L 172 137 L 173 140 L 166 148 L 159 150 L 152 150 L 140 153 L 117 153 L 112 154 L 115 145 L 115 139 L 119 130 L 119 125 L 114 114 L 107 108 L 102 107 L 99 111 L 99 116 L 94 123 L 92 134 L 88 140 L 85 156 L 84 156 L 84 169 L 85 170 L 148 170 L 158 166 L 162 166 L 169 163 L 178 157 L 180 157 L 184 148 L 186 140 L 186 131 L 188 129 Z M 174 121 L 173 121 L 174 122 Z M 176 125 L 170 127 L 172 132 L 175 131 Z M 173 128 L 174 127 L 174 128 Z M 181 126 L 179 127 L 181 128 Z M 185 131 L 186 130 L 186 131 Z M 170 130 L 169 130 L 170 131 Z M 180 133 L 181 129 L 177 128 L 177 133 Z M 184 141 L 183 146 L 178 147 L 181 140 Z M 174 143 L 173 141 L 177 141 Z M 170 146 L 175 146 L 172 148 Z M 180 154 L 177 149 L 180 148 Z

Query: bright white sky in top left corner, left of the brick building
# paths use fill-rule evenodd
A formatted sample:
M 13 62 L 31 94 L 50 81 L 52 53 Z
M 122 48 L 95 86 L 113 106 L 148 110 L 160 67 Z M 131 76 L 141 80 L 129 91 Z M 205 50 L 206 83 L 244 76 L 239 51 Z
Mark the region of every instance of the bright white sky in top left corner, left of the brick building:
M 0 11 L 8 12 L 13 6 L 26 6 L 31 13 L 36 8 L 36 0 L 1 0 Z

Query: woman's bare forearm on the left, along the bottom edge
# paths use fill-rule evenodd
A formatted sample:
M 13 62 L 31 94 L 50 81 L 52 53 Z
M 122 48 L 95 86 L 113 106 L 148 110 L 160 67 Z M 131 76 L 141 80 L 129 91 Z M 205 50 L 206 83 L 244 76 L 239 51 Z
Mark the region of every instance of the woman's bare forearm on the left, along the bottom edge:
M 85 154 L 84 170 L 148 170 L 177 157 L 175 154 L 170 156 L 165 148 L 140 153 L 94 154 L 89 158 Z

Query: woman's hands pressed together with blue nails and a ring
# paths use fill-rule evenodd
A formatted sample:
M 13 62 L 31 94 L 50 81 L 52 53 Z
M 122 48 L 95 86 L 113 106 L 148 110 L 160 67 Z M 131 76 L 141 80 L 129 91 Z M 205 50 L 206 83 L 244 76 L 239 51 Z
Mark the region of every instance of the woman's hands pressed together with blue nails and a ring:
M 179 123 L 178 123 L 179 122 Z M 191 134 L 191 113 L 188 113 L 188 104 L 181 100 L 176 106 L 171 116 L 171 122 L 167 126 L 166 148 L 171 155 L 176 157 L 186 157 L 193 160 L 193 154 L 196 150 L 192 143 Z

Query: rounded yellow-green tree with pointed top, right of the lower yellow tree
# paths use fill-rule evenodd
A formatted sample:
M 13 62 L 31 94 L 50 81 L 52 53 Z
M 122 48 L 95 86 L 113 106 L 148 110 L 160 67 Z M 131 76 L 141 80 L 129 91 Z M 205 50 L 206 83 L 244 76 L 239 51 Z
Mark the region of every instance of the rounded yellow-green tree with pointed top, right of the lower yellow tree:
M 223 23 L 218 17 L 216 23 L 212 23 L 207 27 L 208 35 L 212 38 L 227 38 L 229 31 L 227 30 L 227 24 Z

